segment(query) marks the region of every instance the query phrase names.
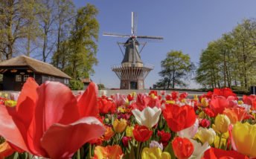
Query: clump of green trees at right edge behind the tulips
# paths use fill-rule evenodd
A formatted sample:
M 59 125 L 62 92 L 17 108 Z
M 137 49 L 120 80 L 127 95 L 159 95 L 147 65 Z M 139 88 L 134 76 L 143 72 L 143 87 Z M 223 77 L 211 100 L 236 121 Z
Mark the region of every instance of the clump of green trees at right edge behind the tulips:
M 248 90 L 256 84 L 255 39 L 255 19 L 243 19 L 231 32 L 209 42 L 201 53 L 196 81 L 203 88 Z

